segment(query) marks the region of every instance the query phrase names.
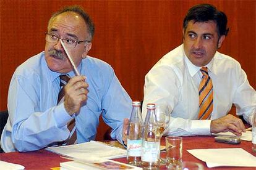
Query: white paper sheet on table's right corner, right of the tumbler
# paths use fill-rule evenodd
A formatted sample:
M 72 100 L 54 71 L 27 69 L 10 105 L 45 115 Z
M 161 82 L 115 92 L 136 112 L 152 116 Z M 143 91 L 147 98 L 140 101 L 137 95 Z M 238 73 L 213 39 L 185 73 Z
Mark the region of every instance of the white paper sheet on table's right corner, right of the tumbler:
M 256 167 L 256 157 L 242 148 L 193 149 L 187 152 L 205 161 L 208 168 L 216 166 Z

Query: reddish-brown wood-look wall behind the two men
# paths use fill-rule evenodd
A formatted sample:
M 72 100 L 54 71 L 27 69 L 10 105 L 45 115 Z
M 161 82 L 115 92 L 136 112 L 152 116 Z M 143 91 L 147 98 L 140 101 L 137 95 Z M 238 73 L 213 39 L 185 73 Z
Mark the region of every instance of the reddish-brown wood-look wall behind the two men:
M 108 62 L 132 99 L 143 99 L 144 76 L 182 42 L 182 20 L 208 2 L 228 15 L 230 33 L 220 49 L 238 60 L 256 89 L 256 1 L 1 1 L 0 110 L 15 68 L 44 50 L 51 14 L 79 4 L 96 26 L 89 55 Z

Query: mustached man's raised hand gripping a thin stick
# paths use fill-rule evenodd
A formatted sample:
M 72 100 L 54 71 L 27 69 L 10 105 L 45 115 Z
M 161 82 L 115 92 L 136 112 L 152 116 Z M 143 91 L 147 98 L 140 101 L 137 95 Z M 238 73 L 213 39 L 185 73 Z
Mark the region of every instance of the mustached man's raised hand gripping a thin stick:
M 70 116 L 77 113 L 83 102 L 86 102 L 88 94 L 87 87 L 88 84 L 85 82 L 85 76 L 71 78 L 69 83 L 64 87 L 64 107 Z

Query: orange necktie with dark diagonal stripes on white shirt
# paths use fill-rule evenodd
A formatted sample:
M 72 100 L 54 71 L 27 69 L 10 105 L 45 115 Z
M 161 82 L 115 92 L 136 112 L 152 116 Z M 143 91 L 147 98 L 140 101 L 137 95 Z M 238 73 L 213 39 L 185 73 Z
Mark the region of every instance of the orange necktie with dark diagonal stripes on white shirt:
M 208 75 L 207 67 L 202 67 L 203 74 L 199 84 L 199 113 L 198 119 L 210 119 L 213 111 L 213 83 Z

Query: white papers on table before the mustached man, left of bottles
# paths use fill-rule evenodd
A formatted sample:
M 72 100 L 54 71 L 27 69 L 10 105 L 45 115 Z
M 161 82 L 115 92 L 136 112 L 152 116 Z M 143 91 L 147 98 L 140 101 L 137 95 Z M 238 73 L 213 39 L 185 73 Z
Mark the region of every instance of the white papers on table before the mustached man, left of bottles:
M 46 150 L 79 160 L 95 161 L 126 156 L 126 150 L 91 140 L 82 144 L 48 147 Z

